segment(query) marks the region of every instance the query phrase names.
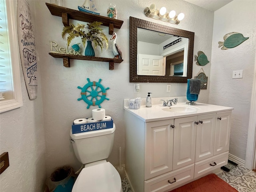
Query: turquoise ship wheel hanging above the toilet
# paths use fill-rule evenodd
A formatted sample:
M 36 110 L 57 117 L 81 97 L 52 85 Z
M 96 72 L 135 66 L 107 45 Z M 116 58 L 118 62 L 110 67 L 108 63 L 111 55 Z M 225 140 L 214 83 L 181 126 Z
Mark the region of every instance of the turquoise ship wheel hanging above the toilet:
M 106 90 L 109 89 L 109 87 L 104 88 L 102 84 L 100 84 L 101 79 L 99 79 L 98 82 L 90 82 L 90 79 L 87 78 L 88 83 L 85 84 L 83 87 L 78 86 L 78 89 L 81 89 L 81 97 L 77 100 L 84 100 L 88 104 L 87 109 L 90 108 L 90 106 L 98 105 L 99 108 L 101 108 L 100 104 L 106 99 L 109 100 L 109 98 L 106 98 Z

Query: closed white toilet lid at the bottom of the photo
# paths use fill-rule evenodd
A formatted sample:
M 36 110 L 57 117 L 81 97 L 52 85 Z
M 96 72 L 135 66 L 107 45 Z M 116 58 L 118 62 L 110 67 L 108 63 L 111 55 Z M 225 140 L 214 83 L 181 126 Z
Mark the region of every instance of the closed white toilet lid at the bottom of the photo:
M 121 178 L 110 163 L 83 168 L 72 188 L 72 192 L 120 192 Z

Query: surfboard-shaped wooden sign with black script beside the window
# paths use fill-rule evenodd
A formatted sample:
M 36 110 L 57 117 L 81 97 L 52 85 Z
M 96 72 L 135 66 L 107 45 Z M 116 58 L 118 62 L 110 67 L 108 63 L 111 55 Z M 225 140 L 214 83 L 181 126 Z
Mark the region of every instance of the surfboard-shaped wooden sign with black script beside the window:
M 37 57 L 34 18 L 28 1 L 19 0 L 17 8 L 18 41 L 23 75 L 30 99 L 37 97 Z

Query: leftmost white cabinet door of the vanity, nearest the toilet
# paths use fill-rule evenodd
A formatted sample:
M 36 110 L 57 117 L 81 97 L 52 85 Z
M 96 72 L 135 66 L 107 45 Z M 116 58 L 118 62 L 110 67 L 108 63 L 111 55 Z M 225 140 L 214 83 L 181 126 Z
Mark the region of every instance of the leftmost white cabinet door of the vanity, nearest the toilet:
M 174 120 L 146 123 L 145 180 L 172 171 Z

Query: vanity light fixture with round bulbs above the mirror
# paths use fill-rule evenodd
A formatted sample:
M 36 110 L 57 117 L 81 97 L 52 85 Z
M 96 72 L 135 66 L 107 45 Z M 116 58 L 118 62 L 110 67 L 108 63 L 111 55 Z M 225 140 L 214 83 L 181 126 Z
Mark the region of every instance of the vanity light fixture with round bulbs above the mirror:
M 166 13 L 166 8 L 162 7 L 160 10 L 156 10 L 156 5 L 151 4 L 150 7 L 144 9 L 144 14 L 147 17 L 154 18 L 157 20 L 162 20 L 165 22 L 170 22 L 172 24 L 179 24 L 182 19 L 184 19 L 184 13 L 176 15 L 176 12 L 172 10 L 170 13 Z

